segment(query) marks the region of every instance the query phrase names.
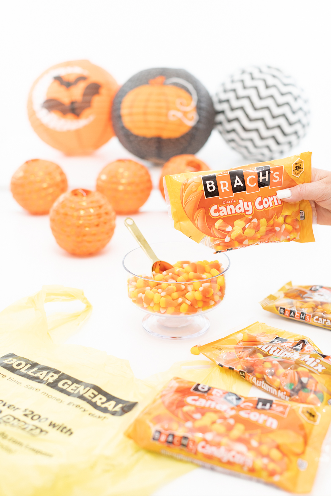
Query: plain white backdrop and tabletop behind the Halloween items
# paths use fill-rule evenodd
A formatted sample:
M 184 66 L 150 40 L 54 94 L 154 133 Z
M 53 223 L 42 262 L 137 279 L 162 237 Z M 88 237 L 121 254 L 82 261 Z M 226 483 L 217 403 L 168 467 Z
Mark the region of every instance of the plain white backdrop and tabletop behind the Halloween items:
M 293 153 L 313 151 L 316 167 L 331 169 L 331 65 L 327 2 L 158 0 L 14 1 L 1 7 L 0 94 L 0 310 L 38 291 L 43 284 L 82 288 L 93 304 L 89 322 L 70 339 L 127 358 L 133 372 L 146 377 L 190 355 L 195 342 L 168 342 L 145 333 L 142 312 L 130 307 L 121 261 L 135 242 L 118 216 L 111 243 L 99 254 L 75 258 L 57 246 L 48 216 L 30 216 L 12 199 L 9 182 L 26 160 L 44 158 L 65 171 L 69 187 L 93 189 L 99 171 L 130 157 L 117 138 L 87 157 L 66 157 L 32 130 L 26 100 L 34 79 L 53 64 L 89 59 L 123 84 L 139 70 L 166 66 L 192 72 L 213 93 L 238 67 L 266 63 L 294 76 L 311 102 L 311 126 Z M 197 154 L 211 168 L 246 161 L 213 131 Z M 160 168 L 149 168 L 154 190 L 134 216 L 150 242 L 186 239 L 173 229 L 157 190 Z M 314 228 L 317 242 L 262 245 L 231 252 L 227 296 L 209 314 L 205 341 L 248 318 L 311 336 L 325 353 L 331 334 L 281 319 L 258 302 L 292 279 L 331 286 L 331 227 Z M 116 309 L 116 310 L 115 310 Z M 210 339 L 211 340 L 211 339 Z M 319 476 L 315 493 L 327 494 Z M 322 485 L 322 486 L 321 486 Z M 321 492 L 322 488 L 322 492 Z M 155 495 L 220 496 L 224 492 L 265 495 L 265 486 L 197 469 Z M 268 495 L 281 494 L 267 489 Z M 282 493 L 285 494 L 285 493 Z M 97 495 L 96 495 L 97 496 Z

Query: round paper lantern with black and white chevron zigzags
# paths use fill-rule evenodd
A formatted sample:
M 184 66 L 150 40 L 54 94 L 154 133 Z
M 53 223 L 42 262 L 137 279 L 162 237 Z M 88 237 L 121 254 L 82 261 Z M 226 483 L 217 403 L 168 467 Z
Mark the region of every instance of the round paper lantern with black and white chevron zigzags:
M 221 84 L 213 101 L 216 128 L 247 159 L 278 158 L 299 142 L 309 125 L 303 90 L 274 67 L 237 71 Z

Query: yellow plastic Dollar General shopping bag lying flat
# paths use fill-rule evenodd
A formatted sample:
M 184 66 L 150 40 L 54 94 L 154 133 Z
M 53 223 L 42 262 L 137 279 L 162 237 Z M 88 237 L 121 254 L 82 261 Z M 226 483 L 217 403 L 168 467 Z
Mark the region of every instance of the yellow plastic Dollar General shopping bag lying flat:
M 44 304 L 83 310 L 47 317 Z M 146 496 L 195 468 L 123 435 L 174 375 L 247 395 L 250 384 L 208 362 L 175 364 L 146 381 L 129 363 L 61 344 L 89 316 L 80 290 L 46 286 L 0 313 L 0 495 Z

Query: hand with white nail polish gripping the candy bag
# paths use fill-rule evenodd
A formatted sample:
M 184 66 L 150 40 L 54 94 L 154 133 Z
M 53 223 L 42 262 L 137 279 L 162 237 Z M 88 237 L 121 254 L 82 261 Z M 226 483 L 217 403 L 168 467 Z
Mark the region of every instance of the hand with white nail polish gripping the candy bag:
M 317 223 L 331 226 L 331 172 L 312 169 L 312 182 L 280 189 L 277 196 L 281 200 L 294 202 L 300 200 L 315 201 Z

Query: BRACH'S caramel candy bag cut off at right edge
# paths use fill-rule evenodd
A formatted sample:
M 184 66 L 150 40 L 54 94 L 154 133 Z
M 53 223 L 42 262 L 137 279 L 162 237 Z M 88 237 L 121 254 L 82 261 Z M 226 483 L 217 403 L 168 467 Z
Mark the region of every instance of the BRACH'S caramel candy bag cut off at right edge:
M 277 315 L 331 330 L 331 288 L 327 286 L 293 286 L 290 281 L 260 304 Z

